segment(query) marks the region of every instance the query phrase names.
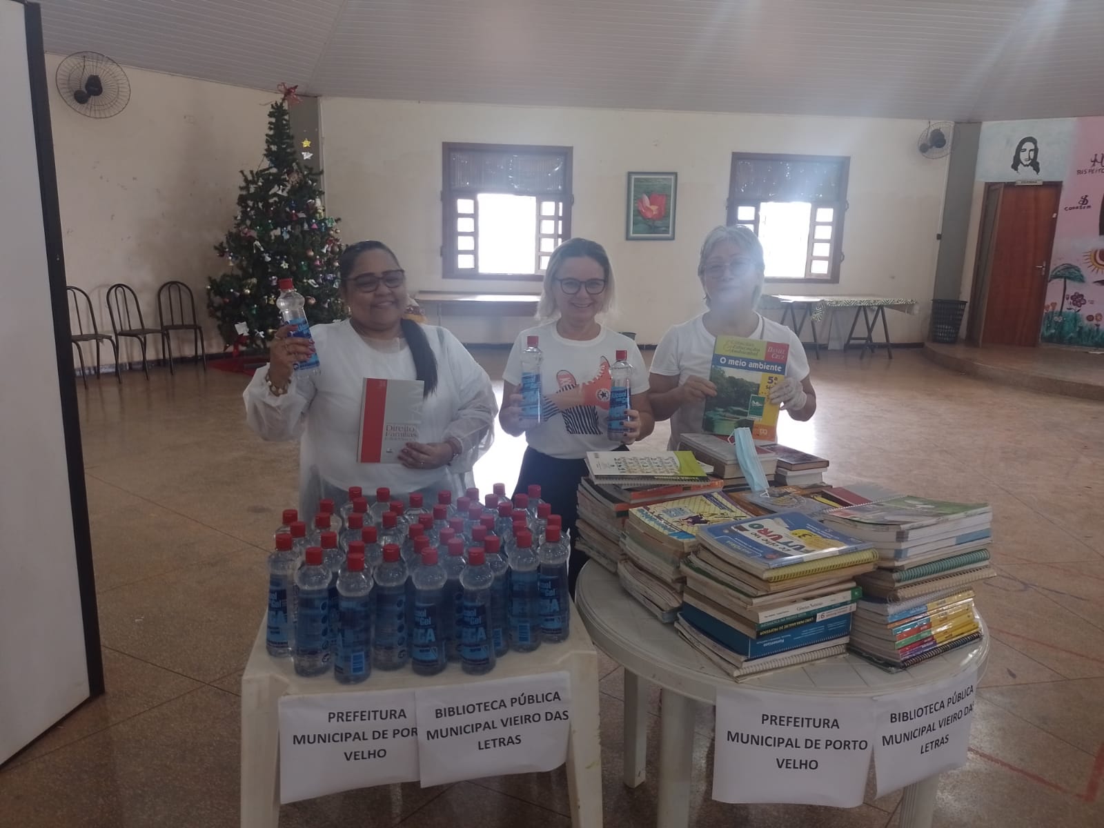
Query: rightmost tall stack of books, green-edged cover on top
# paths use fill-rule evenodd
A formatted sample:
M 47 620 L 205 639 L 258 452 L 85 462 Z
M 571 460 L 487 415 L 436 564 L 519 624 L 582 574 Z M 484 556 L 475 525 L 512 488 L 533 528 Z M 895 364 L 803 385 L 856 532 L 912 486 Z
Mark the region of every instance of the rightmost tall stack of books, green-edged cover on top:
M 856 652 L 894 670 L 980 637 L 969 587 L 997 574 L 988 503 L 910 496 L 836 509 L 821 520 L 878 550 L 878 569 L 857 578 L 863 597 L 851 634 Z

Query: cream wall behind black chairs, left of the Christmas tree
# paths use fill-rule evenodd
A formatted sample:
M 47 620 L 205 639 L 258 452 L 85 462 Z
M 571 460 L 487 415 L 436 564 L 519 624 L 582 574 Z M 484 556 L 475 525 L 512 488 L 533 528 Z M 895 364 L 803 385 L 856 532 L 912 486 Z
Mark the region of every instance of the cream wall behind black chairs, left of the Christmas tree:
M 110 332 L 108 285 L 134 287 L 156 327 L 157 288 L 180 279 L 195 295 L 208 351 L 221 351 L 206 312 L 206 277 L 224 266 L 212 245 L 233 222 L 238 170 L 262 160 L 275 94 L 126 67 L 129 105 L 95 120 L 59 96 L 52 78 L 60 61 L 46 55 L 68 283 L 92 295 L 100 328 Z M 151 353 L 160 355 L 155 339 Z M 190 338 L 179 341 L 191 353 Z M 124 348 L 124 360 L 139 358 L 137 344 Z M 110 357 L 106 347 L 106 363 Z

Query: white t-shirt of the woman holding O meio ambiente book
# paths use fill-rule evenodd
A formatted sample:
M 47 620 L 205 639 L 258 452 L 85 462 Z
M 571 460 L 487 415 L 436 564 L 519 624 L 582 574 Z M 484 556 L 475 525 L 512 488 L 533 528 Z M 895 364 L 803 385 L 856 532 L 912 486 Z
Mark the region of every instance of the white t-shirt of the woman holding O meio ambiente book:
M 679 385 L 690 376 L 709 379 L 709 369 L 713 362 L 713 348 L 716 337 L 705 330 L 702 317 L 673 326 L 656 347 L 651 360 L 651 372 L 662 376 L 678 376 Z M 789 346 L 786 359 L 786 376 L 793 376 L 798 382 L 809 375 L 809 360 L 805 355 L 805 346 L 789 328 L 766 317 L 760 316 L 755 332 L 749 339 L 762 339 L 767 342 L 785 342 Z M 705 403 L 683 405 L 671 415 L 671 438 L 667 447 L 678 448 L 683 434 L 699 434 L 701 421 L 705 413 Z

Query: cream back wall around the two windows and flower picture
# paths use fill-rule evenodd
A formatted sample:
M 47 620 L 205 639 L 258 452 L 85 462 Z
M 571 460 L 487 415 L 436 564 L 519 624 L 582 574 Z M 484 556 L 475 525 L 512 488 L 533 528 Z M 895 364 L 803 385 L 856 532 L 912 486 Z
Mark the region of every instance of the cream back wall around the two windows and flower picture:
M 724 222 L 733 151 L 851 157 L 839 285 L 825 294 L 913 298 L 917 316 L 890 314 L 899 342 L 924 339 L 946 161 L 926 160 L 916 138 L 926 123 L 668 112 L 527 108 L 325 98 L 327 209 L 346 242 L 390 244 L 422 289 L 532 290 L 531 283 L 440 277 L 442 141 L 574 147 L 572 231 L 606 246 L 619 293 L 622 330 L 655 343 L 673 322 L 698 312 L 698 250 Z M 677 238 L 626 242 L 629 170 L 679 173 Z M 779 285 L 776 293 L 806 293 Z M 768 286 L 768 291 L 772 288 Z M 466 341 L 512 341 L 524 320 L 446 318 Z M 808 331 L 806 330 L 806 336 Z

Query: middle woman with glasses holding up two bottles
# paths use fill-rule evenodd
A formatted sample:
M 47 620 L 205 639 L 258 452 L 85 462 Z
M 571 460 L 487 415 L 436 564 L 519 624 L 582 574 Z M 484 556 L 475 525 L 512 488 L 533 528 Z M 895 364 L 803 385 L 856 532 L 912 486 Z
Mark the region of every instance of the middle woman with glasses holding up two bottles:
M 586 475 L 587 452 L 624 449 L 647 437 L 655 427 L 648 402 L 648 372 L 636 342 L 601 325 L 596 317 L 609 307 L 614 275 L 609 257 L 601 244 L 572 238 L 561 244 L 549 259 L 544 289 L 537 315 L 548 321 L 521 331 L 513 342 L 502 372 L 502 408 L 499 423 L 507 434 L 526 435 L 529 447 L 521 461 L 516 491 L 539 484 L 541 499 L 563 519 L 574 538 L 576 491 Z M 529 337 L 537 337 L 541 362 L 541 422 L 527 428 L 521 424 L 521 352 Z M 606 436 L 609 415 L 609 367 L 616 352 L 626 351 L 633 367 L 626 435 L 619 443 Z M 574 545 L 574 544 L 572 544 Z M 586 555 L 572 549 L 567 567 L 569 586 Z

